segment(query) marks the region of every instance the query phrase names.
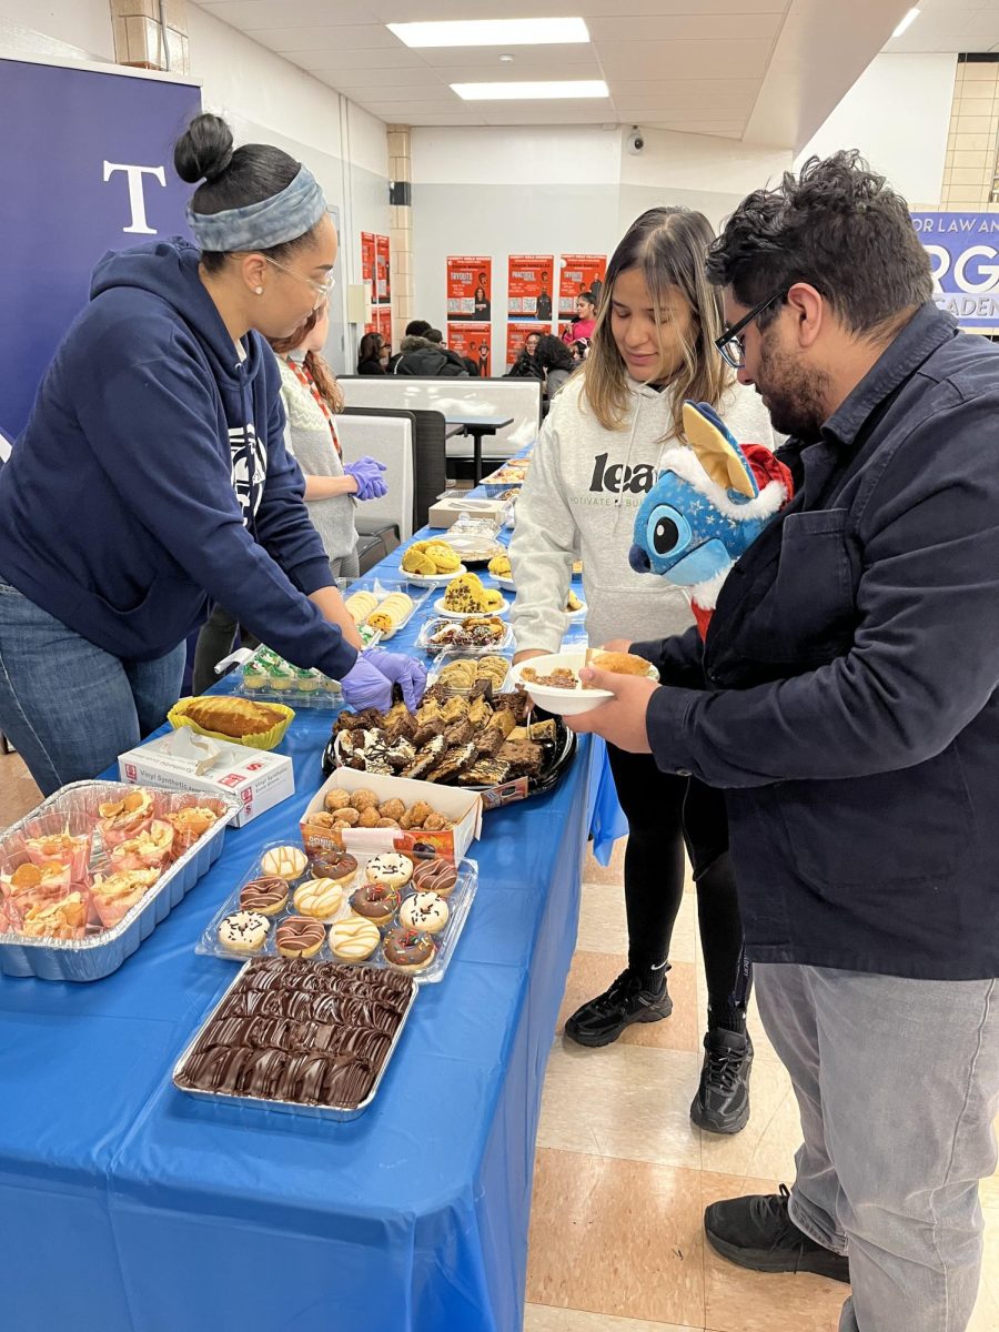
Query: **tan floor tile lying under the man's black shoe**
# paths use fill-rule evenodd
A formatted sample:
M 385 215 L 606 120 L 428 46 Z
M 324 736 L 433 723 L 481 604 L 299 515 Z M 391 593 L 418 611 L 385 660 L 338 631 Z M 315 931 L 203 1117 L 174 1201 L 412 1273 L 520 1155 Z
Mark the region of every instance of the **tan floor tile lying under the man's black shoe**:
M 773 1179 L 702 1175 L 705 1207 L 742 1193 L 773 1193 Z M 834 1332 L 848 1288 L 821 1276 L 747 1272 L 705 1244 L 705 1327 L 710 1332 Z

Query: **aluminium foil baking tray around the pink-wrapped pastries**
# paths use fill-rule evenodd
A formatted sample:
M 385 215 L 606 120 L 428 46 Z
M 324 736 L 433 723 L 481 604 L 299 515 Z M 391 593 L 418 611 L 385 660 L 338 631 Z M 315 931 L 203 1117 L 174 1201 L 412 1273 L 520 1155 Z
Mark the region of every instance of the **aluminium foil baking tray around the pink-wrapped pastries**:
M 99 805 L 121 799 L 133 789 L 127 782 L 72 782 L 7 829 L 0 835 L 0 852 L 12 842 L 16 850 L 20 831 L 39 814 L 93 811 L 96 821 Z M 176 802 L 177 807 L 190 799 L 185 793 L 165 791 L 157 786 L 144 789 L 155 791 L 164 801 Z M 228 795 L 208 794 L 198 794 L 197 803 L 209 809 L 218 807 L 218 822 L 202 834 L 189 851 L 174 860 L 149 894 L 141 902 L 136 902 L 117 924 L 83 939 L 29 939 L 16 932 L 0 934 L 0 974 L 37 976 L 40 980 L 100 980 L 117 971 L 125 958 L 129 958 L 143 939 L 148 939 L 156 926 L 166 919 L 221 854 L 225 827 L 238 810 L 238 805 Z M 100 836 L 95 838 L 95 847 L 91 868 L 100 871 L 107 858 Z

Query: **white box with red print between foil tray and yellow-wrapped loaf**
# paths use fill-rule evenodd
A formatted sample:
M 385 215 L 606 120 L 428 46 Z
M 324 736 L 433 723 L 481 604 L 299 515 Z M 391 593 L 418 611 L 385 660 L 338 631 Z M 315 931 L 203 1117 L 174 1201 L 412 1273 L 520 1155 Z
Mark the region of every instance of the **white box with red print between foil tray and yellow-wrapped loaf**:
M 294 795 L 294 769 L 285 754 L 208 739 L 188 727 L 120 754 L 119 774 L 133 786 L 148 782 L 170 791 L 234 795 L 236 827 Z

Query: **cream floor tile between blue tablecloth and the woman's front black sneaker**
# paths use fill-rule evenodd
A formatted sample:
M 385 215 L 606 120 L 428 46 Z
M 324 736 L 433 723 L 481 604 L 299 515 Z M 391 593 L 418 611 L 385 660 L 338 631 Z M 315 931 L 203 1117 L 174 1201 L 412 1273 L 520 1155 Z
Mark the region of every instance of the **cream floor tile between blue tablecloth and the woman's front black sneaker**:
M 699 1169 L 701 1134 L 690 1122 L 699 1071 L 698 1056 L 681 1050 L 583 1050 L 558 1036 L 538 1146 Z

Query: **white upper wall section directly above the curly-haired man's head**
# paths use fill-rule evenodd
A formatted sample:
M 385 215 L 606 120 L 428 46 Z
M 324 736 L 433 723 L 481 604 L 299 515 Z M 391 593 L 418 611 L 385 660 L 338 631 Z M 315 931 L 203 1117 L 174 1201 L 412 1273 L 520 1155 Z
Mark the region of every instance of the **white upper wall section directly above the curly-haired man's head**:
M 914 209 L 940 206 L 952 55 L 876 56 L 798 156 L 859 148 Z

